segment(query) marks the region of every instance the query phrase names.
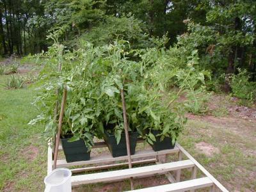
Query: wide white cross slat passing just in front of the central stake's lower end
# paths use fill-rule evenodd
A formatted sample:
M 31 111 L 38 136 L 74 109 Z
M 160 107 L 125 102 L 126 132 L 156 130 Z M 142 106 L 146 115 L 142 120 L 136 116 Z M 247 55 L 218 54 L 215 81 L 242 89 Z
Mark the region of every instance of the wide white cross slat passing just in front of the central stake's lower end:
M 76 175 L 71 177 L 72 186 L 80 184 L 92 184 L 95 182 L 113 182 L 120 179 L 129 179 L 130 177 L 140 177 L 145 175 L 154 175 L 157 173 L 170 172 L 182 168 L 191 168 L 195 166 L 190 160 L 176 161 L 172 163 L 154 164 L 139 168 L 130 168 L 117 170 L 113 172 L 92 173 L 85 175 Z

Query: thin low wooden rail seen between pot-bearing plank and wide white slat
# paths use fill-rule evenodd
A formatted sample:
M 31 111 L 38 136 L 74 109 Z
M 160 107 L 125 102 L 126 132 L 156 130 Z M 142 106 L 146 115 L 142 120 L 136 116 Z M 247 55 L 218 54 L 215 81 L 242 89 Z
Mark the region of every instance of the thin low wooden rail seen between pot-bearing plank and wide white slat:
M 140 160 L 140 161 L 132 161 L 132 164 L 143 164 L 143 163 L 154 163 L 156 162 L 156 159 L 145 159 L 145 160 Z M 104 170 L 104 169 L 109 169 L 109 168 L 115 168 L 118 166 L 125 166 L 128 165 L 127 162 L 125 163 L 118 163 L 118 164 L 106 164 L 102 166 L 90 166 L 90 167 L 85 167 L 85 168 L 76 168 L 72 169 L 72 173 L 79 173 L 79 172 L 88 172 L 88 171 L 95 171 L 95 170 Z

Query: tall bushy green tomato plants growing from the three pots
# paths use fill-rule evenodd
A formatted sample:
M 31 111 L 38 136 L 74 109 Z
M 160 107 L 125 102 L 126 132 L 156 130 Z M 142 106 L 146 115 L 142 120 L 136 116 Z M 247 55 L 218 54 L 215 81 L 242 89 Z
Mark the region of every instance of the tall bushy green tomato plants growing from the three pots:
M 45 57 L 43 85 L 35 100 L 42 113 L 30 124 L 44 122 L 45 135 L 52 138 L 58 123 L 54 106 L 56 100 L 61 103 L 56 90 L 61 93 L 66 88 L 61 134 L 72 134 L 70 141 L 83 138 L 90 147 L 94 136 L 102 138 L 108 131 L 119 143 L 124 132 L 120 96 L 124 89 L 129 131 L 138 131 L 153 143 L 152 130 L 158 130 L 157 136 L 170 137 L 174 143 L 186 123 L 180 97 L 202 89 L 207 73 L 196 69 L 196 50 L 188 54 L 178 47 L 165 49 L 163 39 L 154 42 L 156 47 L 147 49 L 131 49 L 124 40 L 99 47 L 83 42 L 70 52 L 56 41 L 48 52 L 38 55 Z M 57 72 L 60 63 L 62 70 Z

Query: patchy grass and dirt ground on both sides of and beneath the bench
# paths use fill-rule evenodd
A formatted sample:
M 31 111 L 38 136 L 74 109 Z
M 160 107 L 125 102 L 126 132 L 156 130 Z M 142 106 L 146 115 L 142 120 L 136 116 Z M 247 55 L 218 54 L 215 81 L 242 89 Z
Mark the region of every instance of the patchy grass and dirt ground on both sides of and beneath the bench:
M 5 79 L 6 76 L 0 76 L 0 83 Z M 38 113 L 31 104 L 35 88 L 36 85 L 29 85 L 19 90 L 6 90 L 0 86 L 1 191 L 44 189 L 47 145 L 44 138 L 40 138 L 44 127 L 28 125 Z M 256 191 L 256 118 L 232 110 L 242 107 L 225 96 L 220 98 L 222 100 L 216 99 L 219 104 L 212 113 L 215 116 L 188 115 L 188 124 L 179 143 L 230 191 Z M 255 109 L 250 110 L 254 114 Z M 135 186 L 141 188 L 164 182 L 163 177 L 140 179 L 135 181 Z M 74 191 L 84 189 L 120 191 L 129 189 L 129 182 L 94 184 Z

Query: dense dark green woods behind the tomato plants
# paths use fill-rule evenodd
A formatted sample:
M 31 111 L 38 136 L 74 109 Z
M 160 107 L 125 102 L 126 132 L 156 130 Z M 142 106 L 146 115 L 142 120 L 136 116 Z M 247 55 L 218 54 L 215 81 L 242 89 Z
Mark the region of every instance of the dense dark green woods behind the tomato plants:
M 230 79 L 241 70 L 246 84 L 255 81 L 253 0 L 3 0 L 0 17 L 2 56 L 47 51 L 46 36 L 56 29 L 71 51 L 84 41 L 101 46 L 116 39 L 133 49 L 155 47 L 154 38 L 166 35 L 166 47 L 198 50 L 198 67 L 212 74 L 209 90 L 236 90 L 239 81 Z

